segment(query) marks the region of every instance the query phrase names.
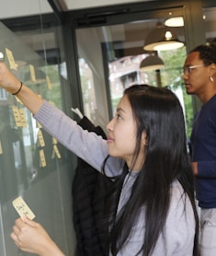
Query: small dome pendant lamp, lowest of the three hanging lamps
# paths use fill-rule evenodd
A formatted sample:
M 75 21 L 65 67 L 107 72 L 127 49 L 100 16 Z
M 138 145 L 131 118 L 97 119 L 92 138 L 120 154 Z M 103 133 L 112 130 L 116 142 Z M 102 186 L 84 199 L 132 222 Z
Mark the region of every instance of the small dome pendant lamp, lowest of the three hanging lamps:
M 150 55 L 142 60 L 140 64 L 140 71 L 151 71 L 161 69 L 165 66 L 165 63 L 161 58 L 155 55 Z

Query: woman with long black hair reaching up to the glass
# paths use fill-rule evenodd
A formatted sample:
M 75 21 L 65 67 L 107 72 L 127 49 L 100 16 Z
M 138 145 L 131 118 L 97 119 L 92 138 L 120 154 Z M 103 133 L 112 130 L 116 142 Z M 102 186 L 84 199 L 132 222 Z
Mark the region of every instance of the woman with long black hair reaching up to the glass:
M 108 140 L 84 131 L 0 64 L 0 85 L 52 136 L 113 180 L 109 255 L 198 255 L 198 215 L 183 111 L 167 88 L 133 86 L 108 122 Z M 63 255 L 40 224 L 17 219 L 11 238 L 40 256 Z M 37 238 L 37 239 L 36 239 Z

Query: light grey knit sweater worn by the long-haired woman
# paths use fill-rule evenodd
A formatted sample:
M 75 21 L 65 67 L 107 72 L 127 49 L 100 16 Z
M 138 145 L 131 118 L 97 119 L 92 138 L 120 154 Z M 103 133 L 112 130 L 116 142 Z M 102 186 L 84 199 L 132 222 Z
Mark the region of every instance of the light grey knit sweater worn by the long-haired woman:
M 106 140 L 95 133 L 84 131 L 76 122 L 44 101 L 35 119 L 44 129 L 55 137 L 61 144 L 81 157 L 92 167 L 101 171 L 105 157 L 108 156 Z M 110 177 L 118 175 L 121 171 L 121 160 L 109 157 L 106 165 L 106 174 Z M 131 186 L 136 179 L 137 172 L 126 176 L 119 198 L 118 212 L 127 202 L 131 194 Z M 171 190 L 171 202 L 163 234 L 157 240 L 153 256 L 191 256 L 193 254 L 195 219 L 188 197 L 182 196 L 183 189 L 175 181 Z M 133 256 L 141 249 L 144 236 L 144 206 L 135 227 L 132 228 L 131 237 L 118 256 Z M 111 253 L 110 253 L 111 255 Z M 142 255 L 142 254 L 139 254 Z

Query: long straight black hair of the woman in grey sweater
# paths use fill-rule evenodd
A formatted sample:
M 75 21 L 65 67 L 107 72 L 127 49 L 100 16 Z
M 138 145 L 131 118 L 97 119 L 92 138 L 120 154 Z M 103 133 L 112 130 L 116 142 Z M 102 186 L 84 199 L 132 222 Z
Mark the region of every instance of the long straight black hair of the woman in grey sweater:
M 108 210 L 109 249 L 117 255 L 131 235 L 139 214 L 145 206 L 145 233 L 138 253 L 148 256 L 165 227 L 170 205 L 171 185 L 178 180 L 192 204 L 196 220 L 193 255 L 198 255 L 198 214 L 194 197 L 194 176 L 187 151 L 184 115 L 176 95 L 167 88 L 136 85 L 125 90 L 137 123 L 135 163 L 141 148 L 143 131 L 147 134 L 144 164 L 131 189 L 131 197 L 116 218 L 123 180 L 130 172 L 125 165 L 113 183 Z M 183 195 L 184 196 L 184 195 Z

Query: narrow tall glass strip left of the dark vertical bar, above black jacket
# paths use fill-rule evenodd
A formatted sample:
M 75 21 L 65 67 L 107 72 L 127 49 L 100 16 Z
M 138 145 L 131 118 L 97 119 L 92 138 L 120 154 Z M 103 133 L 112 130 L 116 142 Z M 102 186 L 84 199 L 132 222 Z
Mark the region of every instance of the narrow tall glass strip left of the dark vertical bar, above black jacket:
M 95 125 L 106 129 L 105 124 L 109 117 L 101 52 L 102 30 L 77 29 L 76 37 L 85 116 Z

